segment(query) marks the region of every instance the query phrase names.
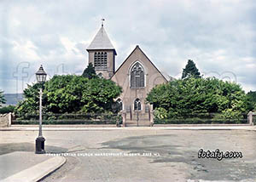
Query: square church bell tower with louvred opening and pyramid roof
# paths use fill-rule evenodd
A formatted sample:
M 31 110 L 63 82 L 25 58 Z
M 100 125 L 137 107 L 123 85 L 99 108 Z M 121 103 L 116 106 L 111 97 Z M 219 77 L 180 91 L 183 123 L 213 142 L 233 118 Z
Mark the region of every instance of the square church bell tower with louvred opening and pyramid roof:
M 96 74 L 106 79 L 112 77 L 117 54 L 104 29 L 103 22 L 102 27 L 86 50 L 89 54 L 89 63 L 94 65 Z

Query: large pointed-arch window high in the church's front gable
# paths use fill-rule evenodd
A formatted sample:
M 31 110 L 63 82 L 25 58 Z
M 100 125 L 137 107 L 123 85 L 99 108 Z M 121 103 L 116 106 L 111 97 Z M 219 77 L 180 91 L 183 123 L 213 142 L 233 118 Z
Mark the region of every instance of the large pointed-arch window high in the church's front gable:
M 133 65 L 131 68 L 131 88 L 145 87 L 144 77 L 145 73 L 143 66 L 139 63 Z

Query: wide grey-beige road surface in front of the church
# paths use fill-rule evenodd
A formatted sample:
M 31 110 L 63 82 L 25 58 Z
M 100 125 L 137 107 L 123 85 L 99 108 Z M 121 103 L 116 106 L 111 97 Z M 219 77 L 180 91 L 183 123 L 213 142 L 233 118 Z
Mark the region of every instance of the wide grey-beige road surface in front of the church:
M 37 137 L 37 132 L 33 131 L 5 131 L 0 134 L 0 154 L 32 151 Z M 61 152 L 69 155 L 67 163 L 43 179 L 44 182 L 256 181 L 255 131 L 134 128 L 46 131 L 44 137 L 46 151 L 51 152 L 50 155 Z M 20 144 L 19 147 L 14 142 Z M 201 159 L 198 158 L 200 149 L 241 151 L 242 158 Z

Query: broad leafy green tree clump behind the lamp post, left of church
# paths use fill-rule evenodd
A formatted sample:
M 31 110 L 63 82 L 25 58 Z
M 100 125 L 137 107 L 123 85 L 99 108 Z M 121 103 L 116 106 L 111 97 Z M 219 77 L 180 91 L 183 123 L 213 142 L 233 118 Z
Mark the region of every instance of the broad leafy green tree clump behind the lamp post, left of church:
M 38 84 L 24 90 L 25 100 L 15 108 L 18 117 L 38 114 Z M 47 113 L 111 112 L 113 99 L 121 88 L 114 82 L 98 77 L 75 75 L 54 76 L 44 84 L 43 105 Z

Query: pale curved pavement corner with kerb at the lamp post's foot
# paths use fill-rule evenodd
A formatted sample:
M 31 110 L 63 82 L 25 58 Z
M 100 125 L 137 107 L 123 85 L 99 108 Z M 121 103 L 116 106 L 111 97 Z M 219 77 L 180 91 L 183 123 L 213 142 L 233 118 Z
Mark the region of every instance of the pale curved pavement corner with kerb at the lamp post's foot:
M 64 156 L 15 151 L 0 156 L 1 182 L 32 182 L 43 179 L 66 162 Z

